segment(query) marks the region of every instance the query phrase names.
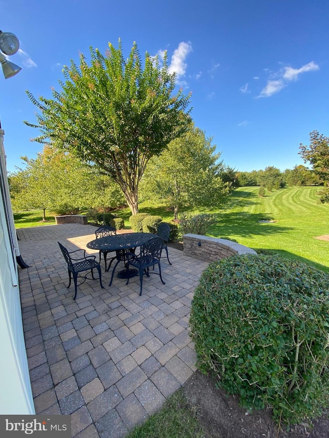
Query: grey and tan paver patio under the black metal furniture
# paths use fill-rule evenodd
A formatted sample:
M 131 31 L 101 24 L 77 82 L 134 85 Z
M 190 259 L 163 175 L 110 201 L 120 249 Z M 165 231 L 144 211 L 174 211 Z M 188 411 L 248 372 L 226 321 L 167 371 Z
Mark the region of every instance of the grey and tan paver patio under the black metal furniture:
M 68 284 L 57 241 L 86 249 L 95 227 L 62 224 L 17 230 L 30 266 L 20 269 L 23 327 L 36 414 L 71 414 L 72 437 L 122 437 L 156 412 L 195 371 L 188 319 L 207 262 L 169 248 L 158 275 Z M 98 256 L 98 252 L 86 250 Z M 97 258 L 98 260 L 98 258 Z M 118 266 L 119 267 L 119 266 Z M 151 271 L 152 272 L 152 271 Z

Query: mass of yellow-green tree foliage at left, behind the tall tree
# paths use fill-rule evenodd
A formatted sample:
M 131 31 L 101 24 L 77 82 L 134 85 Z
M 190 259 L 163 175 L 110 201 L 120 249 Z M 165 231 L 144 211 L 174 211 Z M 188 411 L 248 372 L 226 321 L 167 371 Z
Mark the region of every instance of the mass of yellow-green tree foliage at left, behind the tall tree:
M 21 157 L 25 168 L 10 174 L 10 195 L 15 211 L 40 208 L 72 211 L 81 207 L 116 207 L 124 203 L 119 186 L 99 175 L 72 154 L 45 146 L 35 159 Z

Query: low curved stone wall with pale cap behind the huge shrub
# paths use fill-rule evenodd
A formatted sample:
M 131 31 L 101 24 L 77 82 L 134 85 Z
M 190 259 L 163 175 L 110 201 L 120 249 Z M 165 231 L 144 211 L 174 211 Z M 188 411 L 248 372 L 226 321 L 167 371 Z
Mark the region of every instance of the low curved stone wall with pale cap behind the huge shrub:
M 183 236 L 184 253 L 187 256 L 212 262 L 235 254 L 257 254 L 247 246 L 231 240 L 216 237 L 200 236 L 198 234 L 185 234 Z

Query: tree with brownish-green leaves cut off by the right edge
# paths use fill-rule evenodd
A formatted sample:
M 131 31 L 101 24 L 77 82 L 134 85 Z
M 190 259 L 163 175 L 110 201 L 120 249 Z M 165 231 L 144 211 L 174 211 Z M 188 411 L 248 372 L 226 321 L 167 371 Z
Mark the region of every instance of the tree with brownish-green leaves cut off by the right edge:
M 312 164 L 314 172 L 325 182 L 329 181 L 329 137 L 312 131 L 309 134 L 309 145 L 300 143 L 300 155 L 304 162 Z

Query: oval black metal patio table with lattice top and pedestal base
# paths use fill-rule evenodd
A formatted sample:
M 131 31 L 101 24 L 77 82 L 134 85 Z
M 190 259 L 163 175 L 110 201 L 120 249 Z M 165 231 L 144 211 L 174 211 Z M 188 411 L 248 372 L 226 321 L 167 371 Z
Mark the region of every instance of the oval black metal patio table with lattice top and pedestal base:
M 87 248 L 90 250 L 106 250 L 115 251 L 117 254 L 117 262 L 114 265 L 111 281 L 109 286 L 111 286 L 115 269 L 120 261 L 125 260 L 125 253 L 127 250 L 135 250 L 137 247 L 143 245 L 148 240 L 156 237 L 156 234 L 152 233 L 124 233 L 116 234 L 115 236 L 100 237 L 99 239 L 94 239 L 87 243 Z M 131 278 L 138 275 L 137 269 L 124 269 L 118 272 L 117 277 L 119 278 Z

